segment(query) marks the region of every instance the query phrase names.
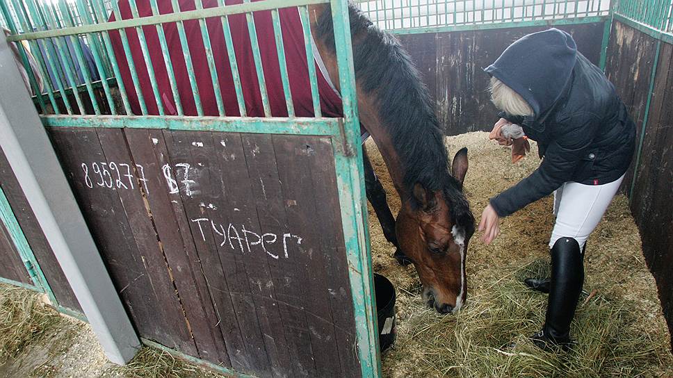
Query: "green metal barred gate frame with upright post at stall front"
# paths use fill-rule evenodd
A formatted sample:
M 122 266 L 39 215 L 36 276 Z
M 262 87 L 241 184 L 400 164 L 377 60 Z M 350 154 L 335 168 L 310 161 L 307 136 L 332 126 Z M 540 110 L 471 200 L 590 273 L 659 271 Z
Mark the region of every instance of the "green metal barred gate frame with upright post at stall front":
M 106 3 L 103 0 L 77 0 L 72 1 L 35 1 L 35 0 L 3 0 L 0 1 L 0 10 L 4 17 L 3 22 L 8 27 L 10 35 L 8 42 L 15 42 L 20 58 L 29 77 L 29 83 L 35 94 L 35 106 L 38 108 L 44 126 L 47 128 L 59 127 L 86 127 L 86 128 L 113 128 L 113 129 L 168 129 L 184 131 L 222 131 L 229 133 L 263 133 L 284 135 L 321 135 L 330 137 L 336 168 L 336 180 L 339 192 L 339 206 L 341 208 L 341 223 L 343 225 L 343 238 L 346 244 L 348 258 L 348 274 L 350 276 L 350 290 L 352 291 L 352 306 L 355 310 L 355 327 L 357 333 L 357 350 L 362 366 L 363 377 L 378 377 L 380 375 L 380 356 L 377 346 L 377 324 L 375 316 L 375 302 L 373 294 L 373 279 L 371 271 L 371 255 L 369 251 L 368 229 L 366 222 L 366 197 L 364 195 L 364 180 L 362 175 L 362 149 L 359 148 L 359 121 L 357 115 L 357 99 L 355 97 L 355 76 L 352 64 L 352 48 L 350 44 L 350 28 L 348 21 L 348 2 L 346 0 L 265 0 L 242 4 L 224 6 L 220 1 L 218 8 L 202 8 L 188 12 L 177 12 L 159 15 L 156 0 L 151 0 L 154 14 L 152 17 L 137 17 L 135 10 L 133 19 L 119 17 L 119 9 L 116 2 Z M 315 114 L 314 118 L 295 117 L 292 109 L 291 94 L 287 81 L 286 63 L 282 38 L 279 38 L 279 15 L 278 8 L 298 7 L 302 23 L 304 24 L 305 41 L 309 42 L 311 30 L 309 26 L 308 6 L 311 4 L 329 3 L 332 9 L 334 33 L 337 41 L 336 57 L 339 66 L 339 86 L 343 100 L 343 117 L 327 118 L 321 116 L 320 100 L 318 99 L 317 76 L 315 65 L 311 64 L 314 54 L 311 44 L 307 43 L 307 60 L 311 81 L 311 94 Z M 133 2 L 131 2 L 133 7 Z M 175 8 L 176 2 L 173 1 Z M 107 22 L 107 9 L 112 6 L 116 19 L 120 21 Z M 133 8 L 132 8 L 133 9 Z M 129 42 L 124 34 L 124 28 L 135 27 L 138 30 L 141 47 L 145 61 L 148 63 L 150 74 L 152 64 L 146 54 L 147 42 L 143 37 L 141 26 L 156 25 L 159 30 L 159 39 L 164 53 L 165 63 L 172 84 L 175 76 L 172 73 L 172 63 L 168 58 L 168 45 L 161 31 L 161 24 L 175 22 L 178 28 L 186 20 L 198 19 L 201 23 L 202 36 L 206 48 L 208 47 L 209 32 L 205 26 L 205 19 L 220 17 L 226 21 L 229 15 L 244 13 L 248 16 L 248 27 L 253 44 L 255 68 L 257 77 L 260 79 L 260 92 L 264 108 L 268 109 L 268 98 L 263 81 L 259 47 L 254 33 L 254 19 L 252 12 L 259 10 L 271 10 L 273 23 L 277 31 L 277 53 L 279 66 L 283 76 L 283 87 L 288 106 L 289 117 L 266 118 L 266 117 L 229 117 L 222 108 L 222 99 L 217 90 L 217 73 L 214 70 L 212 56 L 209 58 L 209 67 L 213 84 L 216 88 L 216 97 L 220 108 L 220 117 L 190 117 L 182 112 L 177 101 L 177 116 L 163 115 L 163 109 L 159 109 L 160 115 L 147 115 L 144 101 L 140 97 L 140 106 L 143 115 L 131 115 L 131 108 L 127 97 L 127 88 L 120 78 L 120 64 L 128 64 L 131 68 L 133 83 L 138 91 L 138 78 L 133 69 L 133 61 L 117 62 L 109 31 L 120 31 L 124 50 L 128 51 Z M 223 22 L 227 25 L 227 22 Z M 181 31 L 181 48 L 189 65 L 189 52 L 184 39 L 184 31 Z M 227 42 L 231 41 L 228 27 L 223 27 Z M 95 67 L 101 76 L 101 80 L 93 81 L 86 69 L 80 38 L 89 47 L 95 60 Z M 74 54 L 68 54 L 68 44 L 74 46 Z M 260 41 L 263 42 L 263 41 Z M 44 49 L 40 49 L 42 43 Z M 232 46 L 228 44 L 228 49 Z M 130 56 L 127 52 L 127 56 Z M 229 54 L 230 68 L 236 80 L 236 92 L 238 106 L 241 114 L 245 115 L 245 104 L 240 95 L 241 83 L 238 81 L 238 67 L 234 54 Z M 31 66 L 31 60 L 36 64 Z M 63 67 L 56 64 L 58 61 Z M 189 67 L 189 66 L 188 66 Z M 77 69 L 83 76 L 83 83 L 76 77 Z M 33 71 L 35 69 L 35 71 Z M 49 80 L 49 72 L 56 76 L 56 80 Z M 189 79 L 195 89 L 193 69 L 189 70 Z M 44 78 L 40 83 L 40 76 Z M 177 90 L 173 86 L 177 97 Z M 117 94 L 118 93 L 118 94 Z M 159 93 L 154 89 L 157 104 L 161 104 Z M 198 91 L 194 91 L 194 97 L 199 110 L 200 99 Z M 115 99 L 121 99 L 119 104 Z M 65 108 L 65 114 L 61 109 Z M 267 112 L 268 115 L 268 112 Z M 1 199 L 1 198 L 0 198 Z M 1 204 L 1 203 L 0 203 Z M 10 220 L 10 216 L 3 212 L 3 220 Z M 19 233 L 17 233 L 19 234 Z M 21 240 L 19 240 L 19 244 Z M 42 286 L 48 288 L 46 281 Z

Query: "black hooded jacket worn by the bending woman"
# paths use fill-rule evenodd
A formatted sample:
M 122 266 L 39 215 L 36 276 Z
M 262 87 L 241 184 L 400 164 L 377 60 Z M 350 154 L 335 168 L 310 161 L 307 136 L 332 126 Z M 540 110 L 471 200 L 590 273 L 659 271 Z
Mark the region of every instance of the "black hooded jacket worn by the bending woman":
M 535 172 L 491 199 L 498 215 L 510 215 L 567 181 L 602 185 L 626 172 L 635 124 L 613 85 L 577 51 L 571 35 L 556 28 L 526 35 L 485 71 L 533 109 L 530 117 L 501 117 L 522 126 L 544 156 Z

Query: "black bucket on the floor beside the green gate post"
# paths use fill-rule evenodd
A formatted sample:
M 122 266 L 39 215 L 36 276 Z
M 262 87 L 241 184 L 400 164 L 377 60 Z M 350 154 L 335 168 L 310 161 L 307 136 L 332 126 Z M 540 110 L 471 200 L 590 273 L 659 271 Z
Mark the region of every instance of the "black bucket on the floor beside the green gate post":
M 395 287 L 386 277 L 374 273 L 374 290 L 376 292 L 379 345 L 381 352 L 384 352 L 395 343 L 397 337 Z

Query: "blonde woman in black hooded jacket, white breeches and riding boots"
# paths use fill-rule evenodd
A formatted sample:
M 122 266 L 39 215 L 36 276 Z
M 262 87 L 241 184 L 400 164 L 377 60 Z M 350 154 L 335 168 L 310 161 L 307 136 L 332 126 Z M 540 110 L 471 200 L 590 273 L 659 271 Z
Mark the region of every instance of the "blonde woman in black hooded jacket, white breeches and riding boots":
M 567 349 L 585 243 L 624 179 L 635 125 L 613 85 L 564 31 L 526 35 L 485 71 L 492 76 L 492 101 L 502 110 L 496 127 L 520 125 L 543 159 L 530 176 L 490 200 L 479 229 L 489 244 L 501 217 L 554 193 L 551 278 L 526 284 L 549 293 L 544 327 L 531 336 L 533 343 Z

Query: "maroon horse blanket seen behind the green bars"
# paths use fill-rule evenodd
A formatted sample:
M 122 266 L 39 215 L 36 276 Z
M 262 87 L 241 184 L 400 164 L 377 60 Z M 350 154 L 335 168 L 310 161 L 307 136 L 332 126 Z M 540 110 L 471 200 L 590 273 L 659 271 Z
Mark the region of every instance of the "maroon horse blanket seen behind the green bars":
M 242 3 L 242 0 L 226 1 L 227 5 L 237 3 Z M 159 0 L 158 5 L 159 13 L 162 15 L 173 13 L 170 0 Z M 152 8 L 149 5 L 149 0 L 137 0 L 136 6 L 138 6 L 138 14 L 140 17 L 152 15 Z M 194 0 L 179 0 L 179 6 L 182 11 L 195 10 L 196 8 Z M 218 4 L 216 0 L 203 0 L 203 6 L 204 8 L 213 8 L 218 6 Z M 131 9 L 129 8 L 129 0 L 120 0 L 119 7 L 122 19 L 132 18 Z M 286 8 L 279 10 L 279 15 L 295 115 L 298 117 L 311 117 L 314 115 L 313 102 L 311 101 L 311 86 L 309 83 L 304 35 L 299 13 L 297 8 Z M 236 92 L 234 90 L 234 79 L 232 78 L 232 70 L 229 66 L 227 46 L 225 44 L 224 34 L 222 33 L 220 19 L 220 17 L 206 19 L 206 26 L 213 48 L 213 59 L 215 60 L 218 72 L 220 91 L 222 92 L 222 100 L 225 105 L 225 113 L 228 116 L 238 116 L 240 113 L 238 111 L 238 102 L 236 101 Z M 111 16 L 110 20 L 113 21 L 114 16 Z M 254 24 L 257 29 L 257 40 L 259 41 L 259 51 L 261 53 L 271 115 L 274 117 L 285 117 L 287 116 L 287 109 L 283 94 L 283 85 L 278 65 L 278 56 L 270 11 L 255 12 Z M 184 28 L 204 115 L 219 115 L 199 21 L 186 21 L 184 22 Z M 254 69 L 252 46 L 245 15 L 229 16 L 229 28 L 231 28 L 232 39 L 234 40 L 236 62 L 238 63 L 238 72 L 241 76 L 243 97 L 245 99 L 248 116 L 263 117 L 264 111 L 259 92 L 259 84 L 257 82 L 257 73 Z M 156 101 L 154 100 L 152 84 L 149 81 L 149 74 L 147 73 L 147 66 L 145 65 L 145 59 L 143 58 L 143 51 L 140 49 L 140 41 L 138 40 L 136 28 L 125 28 L 124 30 L 126 31 L 129 40 L 131 56 L 133 57 L 133 64 L 136 66 L 140 88 L 145 99 L 145 104 L 147 104 L 147 112 L 150 115 L 159 115 L 159 110 L 157 109 Z M 177 81 L 177 88 L 179 90 L 184 114 L 197 115 L 184 54 L 182 53 L 180 38 L 175 22 L 163 24 L 163 31 L 166 36 L 166 42 L 168 43 L 170 60 L 175 72 L 175 79 Z M 159 44 L 159 35 L 156 32 L 156 26 L 143 26 L 143 32 L 145 33 L 145 40 L 147 40 L 149 56 L 152 60 L 152 67 L 154 67 L 154 76 L 159 88 L 159 94 L 161 94 L 165 114 L 176 115 L 175 100 L 173 99 L 172 90 L 170 88 L 170 81 L 168 81 L 168 72 L 166 71 L 163 54 L 161 52 L 161 44 Z M 140 115 L 138 94 L 136 94 L 136 91 L 133 89 L 131 72 L 127 65 L 120 33 L 118 31 L 110 31 L 110 38 L 113 43 L 117 63 L 119 63 L 122 81 L 126 87 L 131 103 L 131 110 L 134 114 Z M 316 71 L 318 72 L 318 92 L 320 93 L 323 116 L 340 117 L 341 99 L 327 83 L 317 65 Z

